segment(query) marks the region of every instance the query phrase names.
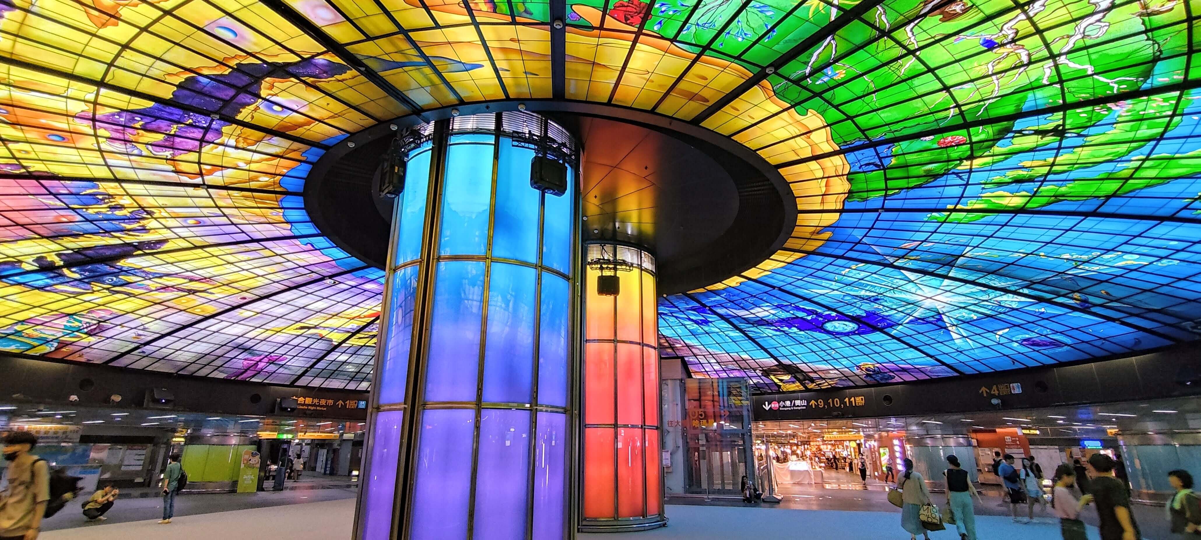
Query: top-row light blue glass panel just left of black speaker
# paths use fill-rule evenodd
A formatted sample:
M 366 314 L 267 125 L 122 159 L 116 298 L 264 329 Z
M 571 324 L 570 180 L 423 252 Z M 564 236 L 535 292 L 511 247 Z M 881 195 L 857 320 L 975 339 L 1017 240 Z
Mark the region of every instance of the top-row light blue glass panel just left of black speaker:
M 538 200 L 542 193 L 530 187 L 531 160 L 533 150 L 514 146 L 513 139 L 501 139 L 492 257 L 538 262 Z

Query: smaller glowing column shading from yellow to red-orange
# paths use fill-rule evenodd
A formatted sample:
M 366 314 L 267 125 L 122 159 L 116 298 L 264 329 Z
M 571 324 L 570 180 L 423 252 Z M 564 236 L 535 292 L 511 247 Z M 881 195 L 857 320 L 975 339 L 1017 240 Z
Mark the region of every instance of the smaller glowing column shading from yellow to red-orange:
M 599 242 L 586 257 L 580 530 L 662 527 L 655 259 Z

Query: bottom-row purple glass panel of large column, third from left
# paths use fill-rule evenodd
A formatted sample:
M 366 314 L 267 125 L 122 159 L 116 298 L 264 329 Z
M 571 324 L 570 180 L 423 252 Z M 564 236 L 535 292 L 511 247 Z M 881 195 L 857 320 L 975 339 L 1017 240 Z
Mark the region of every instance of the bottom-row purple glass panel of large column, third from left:
M 484 409 L 479 420 L 474 540 L 525 538 L 530 412 Z

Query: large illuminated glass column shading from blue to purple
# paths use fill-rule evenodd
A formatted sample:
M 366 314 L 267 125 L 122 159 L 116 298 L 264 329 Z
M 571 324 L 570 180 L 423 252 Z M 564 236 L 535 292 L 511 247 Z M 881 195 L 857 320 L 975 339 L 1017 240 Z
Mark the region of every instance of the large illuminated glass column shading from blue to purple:
M 530 186 L 536 152 L 567 193 Z M 576 149 L 530 113 L 410 139 L 376 355 L 364 540 L 563 540 L 578 340 Z

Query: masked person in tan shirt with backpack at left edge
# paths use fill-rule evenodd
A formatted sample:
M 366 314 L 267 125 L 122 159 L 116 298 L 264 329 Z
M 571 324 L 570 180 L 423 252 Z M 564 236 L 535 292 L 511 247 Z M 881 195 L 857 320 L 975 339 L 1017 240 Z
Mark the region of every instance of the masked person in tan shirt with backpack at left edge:
M 50 468 L 30 454 L 37 437 L 14 431 L 4 438 L 8 486 L 0 492 L 0 540 L 36 540 L 50 500 Z

